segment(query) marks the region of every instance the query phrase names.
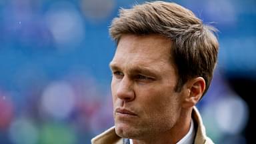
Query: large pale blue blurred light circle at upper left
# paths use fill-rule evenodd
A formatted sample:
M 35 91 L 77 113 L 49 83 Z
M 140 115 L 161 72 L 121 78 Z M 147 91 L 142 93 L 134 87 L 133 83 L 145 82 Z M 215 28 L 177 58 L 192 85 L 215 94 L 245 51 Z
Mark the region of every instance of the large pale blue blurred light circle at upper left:
M 45 21 L 59 49 L 77 47 L 85 37 L 83 20 L 72 3 L 55 2 Z

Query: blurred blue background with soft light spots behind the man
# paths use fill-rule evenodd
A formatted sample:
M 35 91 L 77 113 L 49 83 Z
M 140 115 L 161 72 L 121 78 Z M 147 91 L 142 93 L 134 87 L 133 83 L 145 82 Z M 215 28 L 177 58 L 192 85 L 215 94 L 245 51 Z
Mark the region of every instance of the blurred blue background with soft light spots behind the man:
M 0 143 L 90 143 L 111 127 L 108 27 L 120 7 L 143 2 L 0 0 Z M 208 135 L 255 143 L 256 1 L 174 2 L 219 29 L 219 63 L 198 105 Z

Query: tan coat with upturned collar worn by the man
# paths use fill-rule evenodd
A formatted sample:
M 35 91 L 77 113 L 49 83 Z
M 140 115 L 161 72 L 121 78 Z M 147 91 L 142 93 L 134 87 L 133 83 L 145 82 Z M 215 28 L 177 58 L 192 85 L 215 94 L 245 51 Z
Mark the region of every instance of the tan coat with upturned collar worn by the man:
M 203 121 L 196 107 L 193 107 L 193 120 L 197 125 L 197 133 L 195 135 L 195 144 L 211 144 L 213 141 L 207 137 Z M 115 127 L 111 127 L 107 131 L 97 135 L 91 139 L 92 144 L 123 144 L 123 138 L 115 134 Z

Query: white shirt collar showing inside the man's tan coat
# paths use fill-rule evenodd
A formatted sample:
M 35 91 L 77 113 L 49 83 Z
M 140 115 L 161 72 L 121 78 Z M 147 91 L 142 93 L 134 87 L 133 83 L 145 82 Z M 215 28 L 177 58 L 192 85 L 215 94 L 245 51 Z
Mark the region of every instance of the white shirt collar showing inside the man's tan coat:
M 181 140 L 179 140 L 178 143 L 176 143 L 176 144 L 191 144 L 194 141 L 194 137 L 195 137 L 195 128 L 194 128 L 193 119 L 191 119 L 189 132 Z M 133 144 L 132 139 L 129 139 L 129 142 L 130 142 L 130 144 Z

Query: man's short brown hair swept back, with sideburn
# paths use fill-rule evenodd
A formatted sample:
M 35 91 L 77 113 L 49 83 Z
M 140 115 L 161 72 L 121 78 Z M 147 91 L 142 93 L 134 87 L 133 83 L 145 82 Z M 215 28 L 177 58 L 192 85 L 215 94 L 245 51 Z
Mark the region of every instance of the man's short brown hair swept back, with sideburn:
M 159 34 L 172 41 L 171 62 L 177 67 L 175 91 L 181 91 L 191 78 L 205 79 L 205 92 L 209 88 L 217 63 L 219 43 L 217 29 L 204 25 L 192 11 L 164 1 L 146 2 L 131 9 L 120 9 L 109 28 L 117 45 L 124 34 Z

